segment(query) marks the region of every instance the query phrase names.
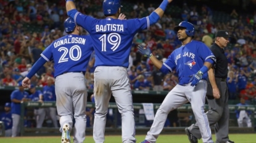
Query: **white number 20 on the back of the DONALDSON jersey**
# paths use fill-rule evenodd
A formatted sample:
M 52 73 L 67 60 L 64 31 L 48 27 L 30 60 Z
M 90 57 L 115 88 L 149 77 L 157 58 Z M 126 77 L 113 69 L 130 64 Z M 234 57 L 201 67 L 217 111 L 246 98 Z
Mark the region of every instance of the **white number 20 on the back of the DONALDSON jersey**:
M 77 55 L 74 56 L 73 54 L 73 51 L 76 50 L 77 51 Z M 69 49 L 69 52 L 68 52 L 68 48 L 66 47 L 60 47 L 58 49 L 59 52 L 62 52 L 64 51 L 64 53 L 60 56 L 60 60 L 59 60 L 59 63 L 62 63 L 62 62 L 67 62 L 68 61 L 68 58 L 66 57 L 67 54 L 69 54 L 69 58 L 73 61 L 78 61 L 80 60 L 81 58 L 81 48 L 78 46 L 78 45 L 73 45 L 70 49 Z

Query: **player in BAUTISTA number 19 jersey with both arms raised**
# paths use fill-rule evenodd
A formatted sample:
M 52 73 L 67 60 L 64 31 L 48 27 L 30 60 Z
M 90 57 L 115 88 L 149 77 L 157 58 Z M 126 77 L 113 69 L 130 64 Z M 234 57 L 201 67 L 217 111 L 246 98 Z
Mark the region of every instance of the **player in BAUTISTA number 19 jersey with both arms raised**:
M 67 0 L 68 16 L 82 26 L 93 40 L 95 51 L 93 137 L 96 143 L 104 142 L 106 115 L 111 94 L 122 115 L 122 142 L 136 142 L 131 86 L 127 70 L 133 37 L 138 31 L 149 29 L 163 15 L 172 0 L 163 0 L 158 9 L 144 18 L 118 20 L 120 0 L 104 0 L 105 19 L 98 20 L 76 10 L 73 0 Z

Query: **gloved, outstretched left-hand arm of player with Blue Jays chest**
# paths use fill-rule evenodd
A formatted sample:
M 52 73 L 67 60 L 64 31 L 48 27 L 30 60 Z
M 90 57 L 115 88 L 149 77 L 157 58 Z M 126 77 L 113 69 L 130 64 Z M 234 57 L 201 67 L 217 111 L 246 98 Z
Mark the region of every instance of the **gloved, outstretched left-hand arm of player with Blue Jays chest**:
M 142 55 L 148 57 L 152 61 L 154 66 L 156 66 L 164 74 L 168 74 L 168 72 L 172 72 L 173 69 L 176 68 L 176 64 L 171 59 L 171 55 L 168 57 L 165 63 L 162 63 L 161 61 L 157 60 L 157 58 L 155 58 L 155 56 L 151 53 L 151 49 L 149 47 L 143 47 L 142 45 L 139 45 L 138 49 Z

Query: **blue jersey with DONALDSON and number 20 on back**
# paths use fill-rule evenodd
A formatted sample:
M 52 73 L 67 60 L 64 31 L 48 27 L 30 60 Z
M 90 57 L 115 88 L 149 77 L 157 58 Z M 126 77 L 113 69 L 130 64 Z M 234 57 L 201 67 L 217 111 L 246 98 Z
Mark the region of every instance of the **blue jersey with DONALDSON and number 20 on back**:
M 52 42 L 41 56 L 54 60 L 54 77 L 64 72 L 85 72 L 93 53 L 90 36 L 67 35 Z

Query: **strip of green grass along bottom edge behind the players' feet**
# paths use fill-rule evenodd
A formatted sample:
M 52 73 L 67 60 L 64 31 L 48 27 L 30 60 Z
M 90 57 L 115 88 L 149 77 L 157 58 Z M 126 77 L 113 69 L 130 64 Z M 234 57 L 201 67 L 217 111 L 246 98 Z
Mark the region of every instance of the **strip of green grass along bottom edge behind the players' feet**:
M 144 140 L 145 136 L 136 136 L 137 143 Z M 229 134 L 229 138 L 236 143 L 256 143 L 256 134 Z M 215 136 L 213 135 L 213 141 Z M 1 143 L 59 143 L 60 136 L 39 136 L 39 137 L 1 137 Z M 73 142 L 73 141 L 72 141 Z M 85 142 L 94 143 L 92 136 L 86 136 Z M 121 136 L 105 136 L 105 143 L 121 143 Z M 186 135 L 160 135 L 157 143 L 188 143 Z M 202 140 L 199 140 L 199 143 Z

